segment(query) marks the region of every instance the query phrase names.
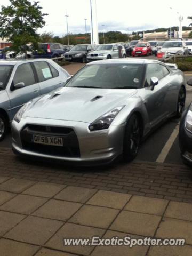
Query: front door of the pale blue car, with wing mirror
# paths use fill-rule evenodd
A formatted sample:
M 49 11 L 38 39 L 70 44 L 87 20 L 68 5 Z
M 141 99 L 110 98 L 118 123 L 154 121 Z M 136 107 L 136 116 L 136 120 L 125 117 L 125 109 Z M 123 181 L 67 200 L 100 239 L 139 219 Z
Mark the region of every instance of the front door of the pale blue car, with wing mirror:
M 18 83 L 24 83 L 24 86 L 16 89 L 15 86 L 17 86 Z M 31 63 L 24 63 L 17 67 L 11 86 L 7 87 L 6 90 L 11 102 L 10 110 L 13 116 L 23 104 L 41 95 Z

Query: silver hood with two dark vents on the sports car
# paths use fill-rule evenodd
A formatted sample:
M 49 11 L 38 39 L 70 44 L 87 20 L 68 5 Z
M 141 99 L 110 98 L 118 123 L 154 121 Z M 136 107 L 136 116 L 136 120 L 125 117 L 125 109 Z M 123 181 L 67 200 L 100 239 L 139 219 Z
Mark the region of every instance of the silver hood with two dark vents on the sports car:
M 107 111 L 126 104 L 137 89 L 63 87 L 34 101 L 23 117 L 92 123 Z

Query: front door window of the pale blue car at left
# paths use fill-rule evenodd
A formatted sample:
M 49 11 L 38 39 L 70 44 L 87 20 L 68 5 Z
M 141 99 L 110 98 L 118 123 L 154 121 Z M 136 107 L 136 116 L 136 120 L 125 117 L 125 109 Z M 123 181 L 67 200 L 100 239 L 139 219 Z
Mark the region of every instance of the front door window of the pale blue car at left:
M 35 84 L 35 77 L 33 73 L 33 69 L 30 65 L 30 63 L 22 64 L 20 65 L 13 77 L 13 84 L 17 84 L 23 82 L 25 83 L 25 86 L 29 86 L 31 84 Z

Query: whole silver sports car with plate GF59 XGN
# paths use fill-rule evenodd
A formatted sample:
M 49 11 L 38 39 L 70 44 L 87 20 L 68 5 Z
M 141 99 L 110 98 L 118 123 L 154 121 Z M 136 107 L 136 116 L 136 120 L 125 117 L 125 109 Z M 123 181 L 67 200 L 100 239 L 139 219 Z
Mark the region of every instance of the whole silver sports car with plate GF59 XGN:
M 131 161 L 151 130 L 181 116 L 185 96 L 182 72 L 162 62 L 91 62 L 68 78 L 65 87 L 18 111 L 12 122 L 13 150 L 86 164 L 118 156 Z

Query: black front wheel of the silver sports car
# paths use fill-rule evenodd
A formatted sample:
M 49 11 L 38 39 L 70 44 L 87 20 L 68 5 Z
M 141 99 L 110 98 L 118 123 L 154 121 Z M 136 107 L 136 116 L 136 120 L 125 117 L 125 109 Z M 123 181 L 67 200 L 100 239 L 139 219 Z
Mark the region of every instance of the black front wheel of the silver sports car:
M 130 162 L 137 156 L 140 140 L 140 120 L 137 115 L 133 114 L 127 121 L 125 128 L 123 145 L 123 159 L 125 162 Z

